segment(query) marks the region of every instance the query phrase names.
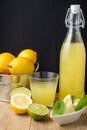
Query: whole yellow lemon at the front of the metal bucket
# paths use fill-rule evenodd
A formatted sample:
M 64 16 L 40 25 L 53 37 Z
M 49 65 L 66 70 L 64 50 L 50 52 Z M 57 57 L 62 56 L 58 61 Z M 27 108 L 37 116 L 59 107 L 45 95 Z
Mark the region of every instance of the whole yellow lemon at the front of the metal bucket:
M 25 57 L 16 57 L 9 64 L 11 74 L 31 74 L 34 71 L 33 63 Z

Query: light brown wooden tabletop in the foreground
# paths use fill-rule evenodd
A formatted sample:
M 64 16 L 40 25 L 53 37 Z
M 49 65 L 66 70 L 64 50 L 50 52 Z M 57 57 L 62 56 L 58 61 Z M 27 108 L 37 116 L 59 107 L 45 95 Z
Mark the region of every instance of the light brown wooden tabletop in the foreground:
M 60 126 L 48 116 L 35 121 L 26 115 L 15 114 L 9 103 L 0 102 L 0 130 L 87 130 L 87 110 L 74 123 Z

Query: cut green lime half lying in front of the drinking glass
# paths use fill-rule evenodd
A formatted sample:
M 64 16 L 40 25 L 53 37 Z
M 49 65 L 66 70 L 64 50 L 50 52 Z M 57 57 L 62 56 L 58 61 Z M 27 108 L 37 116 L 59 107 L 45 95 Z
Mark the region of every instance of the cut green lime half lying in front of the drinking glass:
M 41 120 L 49 113 L 49 109 L 42 104 L 32 103 L 28 106 L 28 114 L 35 120 Z

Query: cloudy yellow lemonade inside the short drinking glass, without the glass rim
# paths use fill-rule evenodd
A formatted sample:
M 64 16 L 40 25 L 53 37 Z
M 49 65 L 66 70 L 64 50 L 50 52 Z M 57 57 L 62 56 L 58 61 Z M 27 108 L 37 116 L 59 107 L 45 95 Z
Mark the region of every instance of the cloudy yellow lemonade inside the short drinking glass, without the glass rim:
M 35 103 L 52 106 L 55 100 L 57 82 L 31 83 L 32 99 Z

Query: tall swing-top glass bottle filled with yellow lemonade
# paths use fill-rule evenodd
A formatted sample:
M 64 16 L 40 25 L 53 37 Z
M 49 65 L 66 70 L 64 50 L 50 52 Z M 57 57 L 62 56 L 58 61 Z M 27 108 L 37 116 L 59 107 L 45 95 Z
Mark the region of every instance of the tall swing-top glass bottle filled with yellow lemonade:
M 59 99 L 66 95 L 80 98 L 84 92 L 86 50 L 80 28 L 85 20 L 80 5 L 71 5 L 65 18 L 68 31 L 60 51 Z

